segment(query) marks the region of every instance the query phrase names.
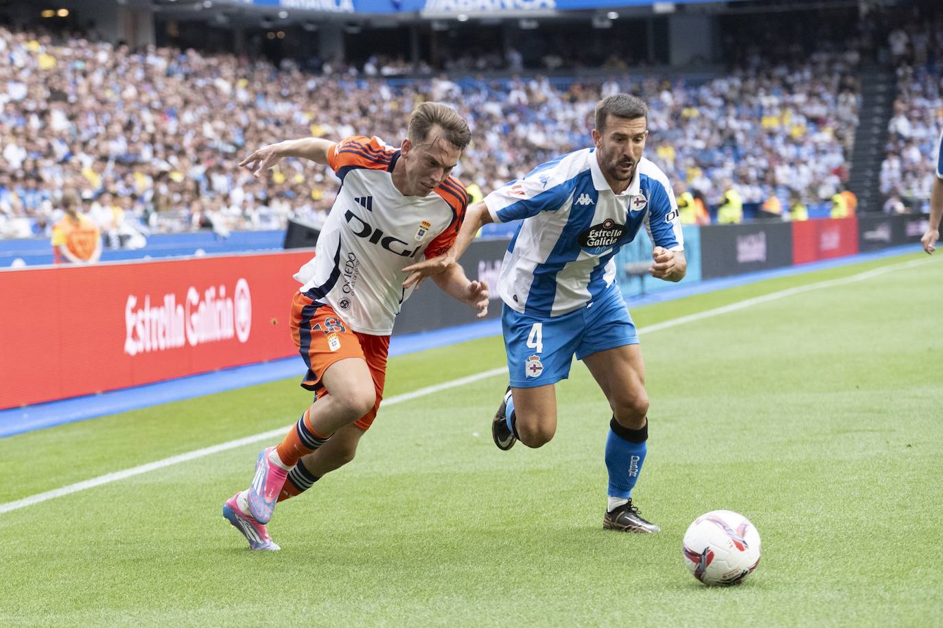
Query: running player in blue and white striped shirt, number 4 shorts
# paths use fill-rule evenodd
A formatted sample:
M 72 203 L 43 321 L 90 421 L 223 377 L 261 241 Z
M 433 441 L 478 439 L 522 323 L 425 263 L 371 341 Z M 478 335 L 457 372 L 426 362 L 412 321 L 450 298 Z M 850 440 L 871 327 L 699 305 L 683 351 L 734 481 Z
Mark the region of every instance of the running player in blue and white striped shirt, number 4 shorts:
M 413 271 L 406 282 L 454 264 L 482 225 L 521 220 L 498 282 L 510 386 L 492 422 L 494 442 L 539 447 L 554 437 L 554 384 L 569 376 L 575 354 L 613 413 L 604 528 L 651 533 L 658 526 L 632 503 L 648 439 L 645 366 L 613 258 L 644 225 L 655 245 L 653 277 L 680 281 L 687 261 L 671 185 L 642 156 L 647 106 L 610 96 L 596 106 L 595 124 L 594 148 L 543 164 L 472 205 L 453 249 L 405 268 Z

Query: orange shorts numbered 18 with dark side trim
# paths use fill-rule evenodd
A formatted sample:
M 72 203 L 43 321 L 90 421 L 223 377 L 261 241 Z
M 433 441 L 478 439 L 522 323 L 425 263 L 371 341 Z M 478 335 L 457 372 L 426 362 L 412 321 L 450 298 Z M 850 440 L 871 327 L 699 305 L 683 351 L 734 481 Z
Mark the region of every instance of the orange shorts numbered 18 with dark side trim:
M 354 425 L 368 429 L 383 400 L 383 385 L 387 380 L 389 336 L 372 336 L 351 330 L 330 305 L 315 301 L 296 292 L 291 302 L 291 339 L 307 365 L 301 385 L 314 391 L 316 398 L 327 395 L 321 378 L 324 371 L 339 360 L 360 358 L 367 362 L 376 389 L 376 404 L 372 411 L 360 417 Z

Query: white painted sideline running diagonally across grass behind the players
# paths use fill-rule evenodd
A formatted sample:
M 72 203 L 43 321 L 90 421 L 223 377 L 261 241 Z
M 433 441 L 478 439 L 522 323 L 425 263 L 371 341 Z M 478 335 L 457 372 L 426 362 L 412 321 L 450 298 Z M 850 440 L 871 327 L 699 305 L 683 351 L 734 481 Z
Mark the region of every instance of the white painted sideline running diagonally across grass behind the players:
M 881 266 L 880 268 L 874 268 L 872 270 L 867 270 L 865 272 L 857 273 L 855 275 L 850 275 L 848 277 L 842 277 L 839 279 L 826 280 L 824 282 L 815 282 L 808 283 L 806 285 L 796 286 L 794 288 L 787 288 L 786 290 L 780 290 L 779 292 L 772 292 L 769 295 L 763 295 L 762 297 L 747 298 L 736 303 L 731 303 L 730 305 L 724 305 L 719 308 L 714 308 L 713 310 L 705 310 L 703 312 L 698 312 L 696 314 L 687 314 L 687 316 L 680 316 L 678 318 L 672 318 L 661 323 L 656 323 L 650 325 L 646 328 L 639 329 L 639 333 L 652 333 L 653 331 L 667 330 L 672 327 L 677 327 L 678 325 L 684 325 L 685 323 L 691 323 L 694 321 L 703 320 L 704 318 L 710 318 L 712 316 L 717 316 L 719 314 L 727 314 L 729 312 L 736 312 L 737 310 L 743 310 L 753 305 L 759 305 L 761 303 L 768 303 L 769 301 L 776 300 L 777 298 L 790 297 L 792 295 L 798 295 L 803 292 L 809 292 L 811 290 L 818 290 L 819 288 L 828 288 L 835 285 L 841 285 L 843 283 L 851 282 L 860 282 L 878 275 L 883 275 L 887 272 L 893 270 L 899 270 L 909 266 L 918 266 L 919 264 L 927 263 L 927 259 L 918 259 L 911 260 L 908 262 L 901 262 L 899 264 L 893 264 L 890 266 Z M 462 386 L 464 384 L 472 383 L 473 381 L 478 381 L 479 379 L 492 378 L 498 375 L 507 373 L 507 367 L 501 366 L 498 368 L 492 368 L 488 371 L 483 371 L 481 373 L 476 373 L 475 375 L 470 375 L 466 378 L 453 379 L 451 381 L 445 381 L 434 386 L 426 386 L 425 388 L 420 388 L 419 390 L 412 391 L 411 393 L 404 393 L 403 395 L 395 395 L 389 397 L 389 399 L 383 400 L 383 406 L 392 406 L 398 403 L 403 403 L 404 401 L 410 401 L 418 397 L 425 395 L 433 395 L 441 391 L 449 390 L 450 388 L 455 388 L 457 386 Z M 179 454 L 177 456 L 171 456 L 170 458 L 165 458 L 161 460 L 156 460 L 154 462 L 148 462 L 147 464 L 141 464 L 141 466 L 131 467 L 130 469 L 124 469 L 123 471 L 116 471 L 114 473 L 99 475 L 98 477 L 92 477 L 89 480 L 84 480 L 82 482 L 76 482 L 75 484 L 70 484 L 69 486 L 64 486 L 58 489 L 53 489 L 52 491 L 40 492 L 35 495 L 30 495 L 29 497 L 24 497 L 23 499 L 18 499 L 13 502 L 7 502 L 6 504 L 0 504 L 0 514 L 4 512 L 9 512 L 11 510 L 17 510 L 19 508 L 25 508 L 27 506 L 33 506 L 34 504 L 40 504 L 41 502 L 48 501 L 50 499 L 55 499 L 56 497 L 62 497 L 64 495 L 69 495 L 78 491 L 85 491 L 87 489 L 93 489 L 96 486 L 102 486 L 103 484 L 109 484 L 111 482 L 117 482 L 118 480 L 123 480 L 126 477 L 133 477 L 134 475 L 146 474 L 150 471 L 156 471 L 157 469 L 163 469 L 164 467 L 169 467 L 180 462 L 187 462 L 188 460 L 204 458 L 206 456 L 211 456 L 212 454 L 218 454 L 221 451 L 228 451 L 229 449 L 235 449 L 241 447 L 245 444 L 257 443 L 258 441 L 267 441 L 269 439 L 277 438 L 285 434 L 285 430 L 288 427 L 279 427 L 277 429 L 270 429 L 266 432 L 261 432 L 253 436 L 246 436 L 245 438 L 240 438 L 235 441 L 229 441 L 228 443 L 214 444 L 209 447 L 204 447 L 202 449 L 195 449 L 193 451 L 187 452 L 186 454 Z

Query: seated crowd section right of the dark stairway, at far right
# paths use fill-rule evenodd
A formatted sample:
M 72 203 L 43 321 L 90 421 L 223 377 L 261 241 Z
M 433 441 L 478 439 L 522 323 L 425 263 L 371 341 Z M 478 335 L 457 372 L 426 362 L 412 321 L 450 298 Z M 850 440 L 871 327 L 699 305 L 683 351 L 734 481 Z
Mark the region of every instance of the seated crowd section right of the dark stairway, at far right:
M 897 99 L 881 169 L 885 211 L 920 211 L 930 198 L 943 132 L 943 13 L 901 24 L 888 36 Z

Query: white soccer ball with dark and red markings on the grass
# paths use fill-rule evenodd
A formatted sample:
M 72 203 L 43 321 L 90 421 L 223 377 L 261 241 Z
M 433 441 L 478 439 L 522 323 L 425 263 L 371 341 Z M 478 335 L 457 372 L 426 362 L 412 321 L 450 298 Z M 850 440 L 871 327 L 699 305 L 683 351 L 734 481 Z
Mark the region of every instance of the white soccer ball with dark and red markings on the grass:
M 738 585 L 760 562 L 760 533 L 731 510 L 711 510 L 687 527 L 687 569 L 705 585 Z

